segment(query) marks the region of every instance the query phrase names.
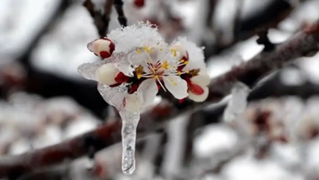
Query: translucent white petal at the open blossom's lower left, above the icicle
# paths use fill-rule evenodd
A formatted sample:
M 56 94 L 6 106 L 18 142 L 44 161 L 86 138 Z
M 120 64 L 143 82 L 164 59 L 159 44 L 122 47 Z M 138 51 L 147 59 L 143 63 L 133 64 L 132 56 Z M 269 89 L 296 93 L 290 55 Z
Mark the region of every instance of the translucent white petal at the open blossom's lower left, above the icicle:
M 142 106 L 148 106 L 152 104 L 157 93 L 158 88 L 153 78 L 143 81 L 137 89 L 137 94 L 142 96 L 144 101 Z

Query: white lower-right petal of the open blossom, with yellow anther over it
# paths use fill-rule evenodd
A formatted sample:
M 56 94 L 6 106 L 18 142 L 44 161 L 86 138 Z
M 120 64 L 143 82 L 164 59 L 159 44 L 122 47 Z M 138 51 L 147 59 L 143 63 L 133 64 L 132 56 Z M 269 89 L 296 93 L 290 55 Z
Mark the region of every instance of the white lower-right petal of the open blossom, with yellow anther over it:
M 187 82 L 183 80 L 180 76 L 164 76 L 163 81 L 167 90 L 171 92 L 176 99 L 182 99 L 188 96 Z

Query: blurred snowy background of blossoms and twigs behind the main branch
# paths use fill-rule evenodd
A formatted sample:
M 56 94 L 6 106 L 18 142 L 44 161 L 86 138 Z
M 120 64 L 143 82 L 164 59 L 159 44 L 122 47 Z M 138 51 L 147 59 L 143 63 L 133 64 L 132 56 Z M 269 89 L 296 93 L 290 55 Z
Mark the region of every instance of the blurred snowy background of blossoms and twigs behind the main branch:
M 270 41 L 280 43 L 319 19 L 319 0 L 123 1 L 128 24 L 149 20 L 167 42 L 182 35 L 204 46 L 212 78 L 262 51 L 256 30 L 269 28 Z M 91 2 L 103 13 L 106 0 Z M 0 0 L 1 155 L 57 144 L 116 116 L 96 83 L 77 72 L 99 60 L 86 49 L 99 33 L 83 3 Z M 108 30 L 119 26 L 113 7 Z M 140 139 L 133 176 L 122 175 L 114 145 L 96 155 L 98 170 L 88 171 L 81 158 L 63 179 L 317 180 L 318 56 L 270 74 L 232 123 L 213 104 L 172 119 L 164 135 Z

